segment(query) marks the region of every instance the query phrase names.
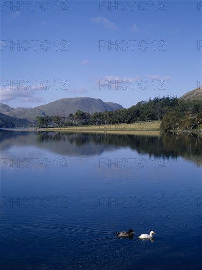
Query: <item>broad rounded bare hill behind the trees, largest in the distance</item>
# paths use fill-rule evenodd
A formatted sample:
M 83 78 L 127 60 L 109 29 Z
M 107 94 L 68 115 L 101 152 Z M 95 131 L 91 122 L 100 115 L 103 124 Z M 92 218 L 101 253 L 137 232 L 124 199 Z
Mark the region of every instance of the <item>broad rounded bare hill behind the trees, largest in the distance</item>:
M 103 102 L 101 99 L 94 98 L 64 98 L 45 105 L 40 105 L 35 108 L 23 108 L 17 110 L 10 110 L 5 112 L 6 115 L 26 119 L 27 121 L 33 122 L 37 116 L 54 116 L 59 115 L 62 117 L 68 117 L 69 114 L 75 113 L 77 110 L 83 112 L 94 112 L 113 111 L 116 109 L 122 109 L 120 104 L 113 102 Z

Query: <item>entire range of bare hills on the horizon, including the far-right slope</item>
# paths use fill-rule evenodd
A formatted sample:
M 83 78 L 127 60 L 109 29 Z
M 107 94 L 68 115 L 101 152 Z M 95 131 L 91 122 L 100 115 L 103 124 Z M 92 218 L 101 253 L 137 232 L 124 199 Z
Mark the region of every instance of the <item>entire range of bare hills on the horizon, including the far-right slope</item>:
M 180 99 L 202 101 L 202 87 L 187 92 Z M 0 127 L 27 126 L 28 123 L 34 123 L 37 116 L 59 115 L 68 117 L 77 110 L 92 114 L 117 109 L 123 109 L 123 107 L 118 103 L 103 102 L 101 99 L 89 97 L 63 98 L 34 108 L 12 108 L 7 104 L 0 103 Z

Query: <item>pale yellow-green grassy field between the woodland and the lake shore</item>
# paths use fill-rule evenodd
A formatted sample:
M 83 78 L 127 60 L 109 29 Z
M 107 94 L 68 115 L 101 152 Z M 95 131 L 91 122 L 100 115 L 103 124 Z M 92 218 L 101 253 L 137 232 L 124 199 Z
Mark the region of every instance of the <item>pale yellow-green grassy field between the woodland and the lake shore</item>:
M 97 132 L 97 133 L 122 133 L 139 135 L 160 135 L 161 121 L 141 121 L 132 124 L 111 124 L 93 126 L 73 126 L 62 128 L 47 128 L 46 131 L 66 131 L 66 132 Z M 37 129 L 39 130 L 39 129 Z

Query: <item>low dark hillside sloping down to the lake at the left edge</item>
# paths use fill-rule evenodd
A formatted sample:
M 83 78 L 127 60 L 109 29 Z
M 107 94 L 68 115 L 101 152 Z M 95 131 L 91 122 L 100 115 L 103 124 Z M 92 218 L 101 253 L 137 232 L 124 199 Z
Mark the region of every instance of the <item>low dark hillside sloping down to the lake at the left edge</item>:
M 28 127 L 29 123 L 0 112 L 0 128 Z

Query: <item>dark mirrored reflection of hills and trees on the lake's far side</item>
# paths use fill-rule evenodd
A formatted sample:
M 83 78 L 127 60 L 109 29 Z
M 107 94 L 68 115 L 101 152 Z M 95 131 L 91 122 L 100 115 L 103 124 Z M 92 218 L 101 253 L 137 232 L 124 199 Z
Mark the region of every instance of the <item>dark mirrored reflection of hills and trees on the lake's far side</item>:
M 54 143 L 52 143 L 54 142 Z M 139 154 L 177 158 L 195 163 L 201 160 L 202 139 L 198 135 L 162 133 L 160 136 L 87 134 L 62 132 L 0 131 L 1 149 L 35 145 L 61 155 L 97 155 L 117 147 L 130 147 Z

